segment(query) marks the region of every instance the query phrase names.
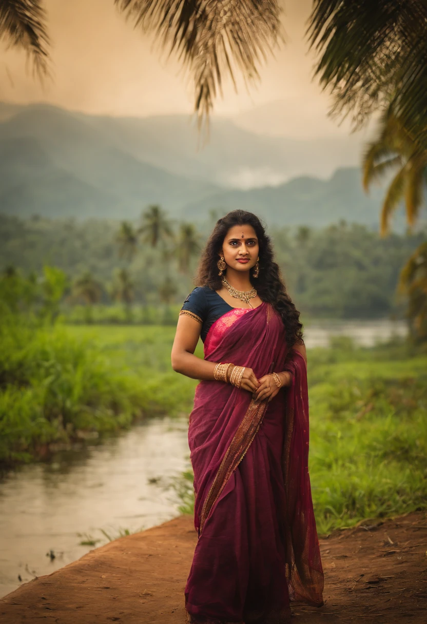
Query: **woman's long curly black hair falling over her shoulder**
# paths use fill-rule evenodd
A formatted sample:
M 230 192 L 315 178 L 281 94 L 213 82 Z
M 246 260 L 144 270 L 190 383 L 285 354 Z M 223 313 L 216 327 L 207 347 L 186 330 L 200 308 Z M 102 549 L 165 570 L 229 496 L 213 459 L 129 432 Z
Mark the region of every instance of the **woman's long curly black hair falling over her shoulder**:
M 218 275 L 217 262 L 219 253 L 223 245 L 228 230 L 234 225 L 252 225 L 258 238 L 260 246 L 259 275 L 253 277 L 253 270 L 250 270 L 250 281 L 257 289 L 258 295 L 266 303 L 271 303 L 273 308 L 282 317 L 285 326 L 288 346 L 295 343 L 303 343 L 302 328 L 300 323 L 300 313 L 292 303 L 280 275 L 280 268 L 273 259 L 273 248 L 270 236 L 265 233 L 260 219 L 257 215 L 246 210 L 233 210 L 225 217 L 220 218 L 209 236 L 202 258 L 199 263 L 199 270 L 196 277 L 197 286 L 209 286 L 213 290 L 222 288 L 221 277 Z

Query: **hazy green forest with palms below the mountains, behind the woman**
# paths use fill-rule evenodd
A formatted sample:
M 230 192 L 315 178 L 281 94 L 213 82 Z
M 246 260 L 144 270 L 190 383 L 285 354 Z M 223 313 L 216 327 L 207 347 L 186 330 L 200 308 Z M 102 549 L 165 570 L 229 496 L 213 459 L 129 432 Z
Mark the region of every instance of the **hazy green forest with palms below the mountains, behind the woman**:
M 163 218 L 157 243 L 145 215 L 141 225 L 0 217 L 0 271 L 13 265 L 22 275 L 39 275 L 46 264 L 64 271 L 62 312 L 72 323 L 151 322 L 139 306 L 184 301 L 193 287 L 195 243 L 204 244 L 209 228 L 187 232 L 183 224 L 174 242 Z M 273 239 L 288 290 L 306 317 L 373 318 L 403 311 L 398 276 L 425 234 L 381 239 L 342 222 L 321 230 L 277 228 Z

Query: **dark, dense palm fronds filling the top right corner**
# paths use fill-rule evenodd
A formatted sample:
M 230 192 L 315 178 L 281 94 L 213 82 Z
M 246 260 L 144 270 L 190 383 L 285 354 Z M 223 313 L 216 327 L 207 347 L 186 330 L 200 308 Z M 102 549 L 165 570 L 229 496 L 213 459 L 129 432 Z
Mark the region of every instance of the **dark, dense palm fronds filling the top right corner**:
M 427 149 L 425 0 L 313 0 L 307 34 L 335 114 L 357 124 L 391 103 Z

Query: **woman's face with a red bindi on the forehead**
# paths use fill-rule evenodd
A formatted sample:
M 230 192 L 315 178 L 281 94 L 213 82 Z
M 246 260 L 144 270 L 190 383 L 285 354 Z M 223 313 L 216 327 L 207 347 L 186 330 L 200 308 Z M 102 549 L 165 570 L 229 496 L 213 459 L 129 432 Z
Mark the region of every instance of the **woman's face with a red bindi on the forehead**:
M 233 225 L 222 243 L 227 266 L 235 271 L 248 271 L 255 265 L 260 247 L 252 225 Z

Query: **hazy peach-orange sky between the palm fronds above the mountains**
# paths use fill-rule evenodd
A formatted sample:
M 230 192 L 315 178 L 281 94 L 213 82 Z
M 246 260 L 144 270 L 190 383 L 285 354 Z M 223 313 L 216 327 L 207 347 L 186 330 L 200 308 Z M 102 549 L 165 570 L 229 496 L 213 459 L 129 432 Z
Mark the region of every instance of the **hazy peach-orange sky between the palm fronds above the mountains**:
M 327 118 L 329 100 L 312 82 L 313 57 L 303 40 L 311 0 L 285 2 L 287 44 L 261 69 L 260 84 L 235 95 L 230 85 L 215 113 L 239 115 L 263 107 L 246 125 L 260 122 L 270 134 L 346 134 Z M 52 39 L 54 82 L 44 89 L 26 70 L 25 56 L 4 51 L 0 98 L 9 102 L 49 102 L 71 110 L 146 116 L 191 113 L 192 84 L 179 64 L 167 59 L 141 31 L 134 30 L 113 0 L 46 0 Z M 265 107 L 272 103 L 272 106 Z M 263 112 L 265 111 L 265 112 Z M 257 121 L 258 120 L 258 121 Z

